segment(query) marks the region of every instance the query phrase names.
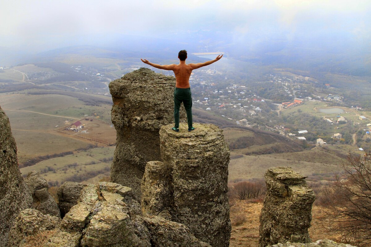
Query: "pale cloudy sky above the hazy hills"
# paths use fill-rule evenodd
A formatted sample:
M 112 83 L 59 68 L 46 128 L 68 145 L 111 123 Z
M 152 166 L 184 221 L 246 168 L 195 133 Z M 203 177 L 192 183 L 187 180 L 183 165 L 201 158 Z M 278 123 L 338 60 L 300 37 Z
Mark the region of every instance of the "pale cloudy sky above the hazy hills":
M 12 0 L 1 2 L 0 23 L 0 46 L 36 51 L 108 45 L 122 34 L 181 41 L 202 30 L 236 43 L 333 34 L 370 45 L 371 1 Z

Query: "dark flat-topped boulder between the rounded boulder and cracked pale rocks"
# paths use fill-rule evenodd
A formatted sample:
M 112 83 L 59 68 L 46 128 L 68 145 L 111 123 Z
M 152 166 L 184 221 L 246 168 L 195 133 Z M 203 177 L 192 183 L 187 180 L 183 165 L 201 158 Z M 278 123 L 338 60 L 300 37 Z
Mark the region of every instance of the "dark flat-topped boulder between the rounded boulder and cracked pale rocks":
M 77 204 L 85 184 L 67 181 L 57 191 L 60 216 L 63 218 Z

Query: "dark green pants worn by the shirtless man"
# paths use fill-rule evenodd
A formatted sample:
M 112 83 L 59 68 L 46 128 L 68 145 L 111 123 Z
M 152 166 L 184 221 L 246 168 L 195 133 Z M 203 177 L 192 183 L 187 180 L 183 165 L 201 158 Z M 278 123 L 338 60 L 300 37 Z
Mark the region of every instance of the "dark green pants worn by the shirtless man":
M 192 127 L 192 94 L 191 88 L 179 89 L 175 87 L 174 90 L 174 121 L 175 128 L 179 128 L 179 108 L 183 102 L 185 112 L 187 113 L 188 128 Z

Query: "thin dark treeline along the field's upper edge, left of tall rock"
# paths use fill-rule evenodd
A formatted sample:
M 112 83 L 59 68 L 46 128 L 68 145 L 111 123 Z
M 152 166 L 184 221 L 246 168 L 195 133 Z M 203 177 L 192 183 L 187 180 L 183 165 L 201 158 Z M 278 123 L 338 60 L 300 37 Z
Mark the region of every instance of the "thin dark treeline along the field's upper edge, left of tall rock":
M 111 97 L 96 97 L 92 94 L 81 94 L 76 92 L 69 92 L 69 91 L 46 91 L 46 90 L 40 90 L 40 91 L 33 91 L 29 92 L 29 94 L 60 94 L 60 95 L 66 95 L 70 97 L 77 98 L 78 100 L 83 101 L 88 106 L 101 106 L 101 104 L 113 104 Z

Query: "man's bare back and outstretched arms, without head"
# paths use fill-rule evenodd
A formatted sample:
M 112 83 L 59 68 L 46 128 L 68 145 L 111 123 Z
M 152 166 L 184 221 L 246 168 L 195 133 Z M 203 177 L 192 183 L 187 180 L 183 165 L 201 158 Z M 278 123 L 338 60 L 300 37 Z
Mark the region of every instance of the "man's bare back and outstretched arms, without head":
M 177 80 L 175 87 L 180 88 L 180 89 L 187 89 L 190 87 L 189 77 L 191 76 L 192 70 L 215 63 L 216 61 L 221 59 L 221 57 L 223 57 L 223 55 L 221 56 L 218 55 L 216 59 L 210 60 L 204 63 L 186 64 L 185 60 L 184 61 L 180 60 L 179 64 L 169 64 L 169 65 L 160 65 L 160 64 L 151 63 L 150 61 L 146 59 L 141 59 L 141 60 L 143 63 L 149 64 L 157 69 L 173 70 L 175 74 L 175 79 Z

